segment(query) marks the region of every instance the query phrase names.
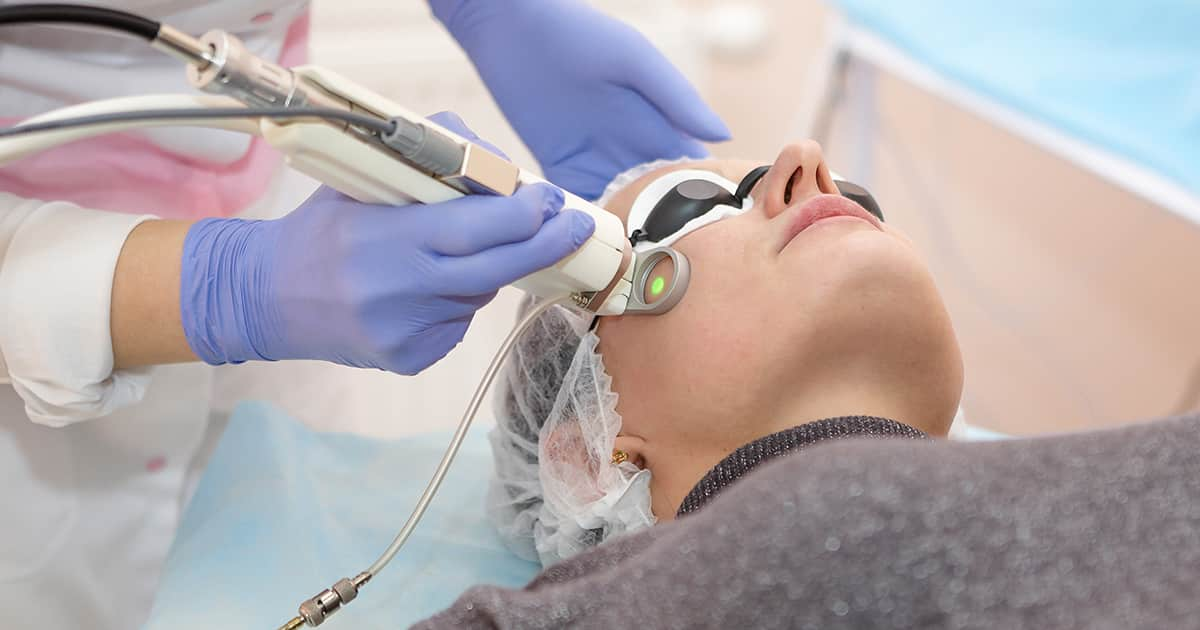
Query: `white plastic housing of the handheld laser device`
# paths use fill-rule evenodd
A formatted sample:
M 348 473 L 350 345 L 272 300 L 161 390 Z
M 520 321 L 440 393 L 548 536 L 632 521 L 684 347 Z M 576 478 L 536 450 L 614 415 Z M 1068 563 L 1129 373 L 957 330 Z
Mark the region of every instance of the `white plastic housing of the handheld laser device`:
M 408 112 L 390 100 L 318 66 L 292 68 L 304 80 L 308 80 L 343 98 L 356 108 L 391 118 L 425 121 L 437 131 L 469 145 L 464 138 L 445 127 L 426 121 L 424 116 Z M 329 186 L 365 203 L 406 205 L 410 203 L 439 203 L 462 197 L 463 193 L 432 178 L 389 154 L 386 149 L 365 143 L 353 134 L 329 125 L 282 122 L 264 120 L 263 138 L 276 146 L 289 166 Z M 468 156 L 469 158 L 469 156 Z M 524 169 L 520 172 L 522 185 L 545 182 L 544 179 Z M 607 288 L 613 277 L 624 271 L 618 286 L 598 310 L 599 314 L 619 314 L 629 300 L 632 266 L 622 269 L 624 251 L 629 247 L 620 218 L 584 199 L 564 191 L 565 209 L 587 212 L 595 221 L 595 233 L 575 253 L 559 260 L 554 266 L 530 274 L 514 283 L 520 289 L 542 298 L 565 294 L 599 292 Z

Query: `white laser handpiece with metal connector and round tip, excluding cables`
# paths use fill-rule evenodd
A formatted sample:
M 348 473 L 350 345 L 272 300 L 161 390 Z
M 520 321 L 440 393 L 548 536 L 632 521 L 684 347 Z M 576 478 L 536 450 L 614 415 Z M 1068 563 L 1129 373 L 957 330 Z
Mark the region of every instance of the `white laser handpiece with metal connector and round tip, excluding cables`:
M 437 203 L 472 193 L 511 194 L 521 185 L 544 181 L 326 68 L 265 61 L 226 31 L 194 38 L 163 25 L 151 44 L 186 61 L 193 86 L 251 107 L 344 109 L 392 124 L 390 133 L 377 133 L 346 122 L 263 122 L 264 138 L 293 168 L 361 202 Z M 688 282 L 685 264 L 676 265 L 680 271 L 667 283 L 673 299 L 652 307 L 634 295 L 635 271 L 644 266 L 638 259 L 647 256 L 632 251 L 620 220 L 569 192 L 564 197 L 564 208 L 592 216 L 594 234 L 554 266 L 514 286 L 542 298 L 570 295 L 576 306 L 606 316 L 660 313 L 678 302 Z

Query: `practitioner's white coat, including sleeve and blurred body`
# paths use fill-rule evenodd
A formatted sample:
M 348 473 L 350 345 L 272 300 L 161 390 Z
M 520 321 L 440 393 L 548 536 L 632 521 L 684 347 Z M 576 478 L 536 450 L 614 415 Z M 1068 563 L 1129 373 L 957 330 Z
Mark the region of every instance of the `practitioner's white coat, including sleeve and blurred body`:
M 307 8 L 301 0 L 102 4 L 193 34 L 224 28 L 268 55 Z M 140 42 L 80 30 L 0 32 L 4 118 L 186 91 L 181 66 Z M 224 162 L 248 144 L 202 130 L 146 137 Z M 0 191 L 0 377 L 11 380 L 0 383 L 0 628 L 127 629 L 149 612 L 200 464 L 211 368 L 112 370 L 113 270 L 145 218 Z

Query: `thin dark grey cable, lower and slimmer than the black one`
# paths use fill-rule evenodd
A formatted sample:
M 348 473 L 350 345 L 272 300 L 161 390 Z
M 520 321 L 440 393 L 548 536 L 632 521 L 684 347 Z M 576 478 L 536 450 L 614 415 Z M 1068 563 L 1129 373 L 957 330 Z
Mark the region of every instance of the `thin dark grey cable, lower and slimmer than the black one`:
M 89 116 L 64 118 L 59 120 L 47 120 L 29 125 L 17 125 L 0 128 L 0 138 L 12 138 L 16 136 L 28 136 L 31 133 L 43 133 L 47 131 L 60 131 L 74 127 L 90 127 L 92 125 L 107 125 L 112 122 L 144 122 L 154 120 L 184 120 L 184 119 L 224 119 L 224 118 L 269 118 L 269 119 L 301 119 L 316 118 L 322 120 L 337 120 L 348 122 L 380 134 L 390 133 L 395 124 L 388 120 L 343 112 L 341 109 L 322 108 L 289 108 L 289 107 L 224 107 L 224 108 L 176 108 L 176 109 L 144 109 L 140 112 L 113 112 L 108 114 L 94 114 Z

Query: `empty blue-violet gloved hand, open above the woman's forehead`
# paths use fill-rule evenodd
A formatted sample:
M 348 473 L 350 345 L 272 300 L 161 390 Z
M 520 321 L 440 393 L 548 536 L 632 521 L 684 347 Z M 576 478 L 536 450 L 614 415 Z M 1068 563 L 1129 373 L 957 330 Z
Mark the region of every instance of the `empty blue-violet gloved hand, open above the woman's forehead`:
M 546 179 L 595 199 L 620 172 L 703 157 L 725 124 L 632 28 L 578 0 L 430 0 Z

